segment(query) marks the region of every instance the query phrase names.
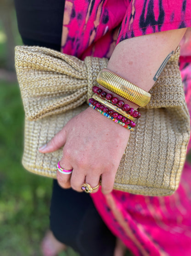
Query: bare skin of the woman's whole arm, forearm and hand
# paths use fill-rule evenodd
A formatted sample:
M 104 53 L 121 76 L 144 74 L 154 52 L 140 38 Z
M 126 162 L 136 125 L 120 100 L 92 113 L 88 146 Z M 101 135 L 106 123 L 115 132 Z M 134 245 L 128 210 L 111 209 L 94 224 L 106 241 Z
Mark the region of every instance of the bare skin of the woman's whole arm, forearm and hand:
M 185 31 L 169 30 L 124 40 L 116 46 L 107 68 L 149 91 L 155 83 L 153 77 L 157 70 L 176 49 Z M 133 103 L 129 105 L 137 107 Z M 71 186 L 81 191 L 84 181 L 95 187 L 102 175 L 101 189 L 107 194 L 112 191 L 129 134 L 123 126 L 88 107 L 39 151 L 48 153 L 63 147 L 61 166 L 73 168 L 70 175 L 57 172 L 58 183 L 63 188 Z

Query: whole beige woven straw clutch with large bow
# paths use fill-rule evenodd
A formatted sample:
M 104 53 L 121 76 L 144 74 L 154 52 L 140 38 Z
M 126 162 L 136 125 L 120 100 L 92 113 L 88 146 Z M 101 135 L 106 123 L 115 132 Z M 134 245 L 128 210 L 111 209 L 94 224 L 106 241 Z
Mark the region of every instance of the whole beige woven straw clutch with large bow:
M 179 49 L 150 90 L 151 101 L 140 108 L 141 118 L 130 134 L 114 189 L 166 196 L 178 188 L 190 137 L 178 59 Z M 22 164 L 30 172 L 56 178 L 62 149 L 47 154 L 38 149 L 88 107 L 85 102 L 108 60 L 82 61 L 47 48 L 17 46 L 15 61 L 26 113 Z

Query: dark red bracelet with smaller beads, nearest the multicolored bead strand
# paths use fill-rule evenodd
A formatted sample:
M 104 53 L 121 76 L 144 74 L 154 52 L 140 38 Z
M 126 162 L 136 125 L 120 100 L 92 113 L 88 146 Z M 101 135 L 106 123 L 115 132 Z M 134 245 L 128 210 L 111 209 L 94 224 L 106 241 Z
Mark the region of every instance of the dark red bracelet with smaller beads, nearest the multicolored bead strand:
M 136 126 L 136 124 L 132 120 L 124 117 L 122 114 L 118 114 L 117 112 L 114 112 L 112 109 L 109 109 L 107 106 L 101 105 L 99 101 L 96 101 L 93 98 L 91 98 L 89 99 L 89 102 L 95 107 L 98 107 L 101 111 L 108 113 L 113 118 L 122 121 L 125 125 L 129 125 L 133 128 Z

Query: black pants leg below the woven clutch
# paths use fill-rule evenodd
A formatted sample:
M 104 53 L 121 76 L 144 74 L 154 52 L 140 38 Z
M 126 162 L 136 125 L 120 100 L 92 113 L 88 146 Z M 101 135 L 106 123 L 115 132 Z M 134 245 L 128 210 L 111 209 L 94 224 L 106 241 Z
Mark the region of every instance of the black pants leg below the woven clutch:
M 116 238 L 98 214 L 90 195 L 63 190 L 54 180 L 51 230 L 83 256 L 113 256 Z

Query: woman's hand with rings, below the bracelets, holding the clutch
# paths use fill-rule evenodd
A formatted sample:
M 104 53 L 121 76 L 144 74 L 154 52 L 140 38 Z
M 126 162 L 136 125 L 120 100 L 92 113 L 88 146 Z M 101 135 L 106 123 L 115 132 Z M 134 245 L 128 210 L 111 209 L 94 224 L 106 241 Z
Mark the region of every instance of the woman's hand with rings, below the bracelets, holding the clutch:
M 60 165 L 67 170 L 73 169 L 73 172 L 68 175 L 57 171 L 58 183 L 63 188 L 71 186 L 76 191 L 82 191 L 84 182 L 93 188 L 102 176 L 101 188 L 106 194 L 113 189 L 129 134 L 129 130 L 89 107 L 71 119 L 39 151 L 48 153 L 64 146 Z

